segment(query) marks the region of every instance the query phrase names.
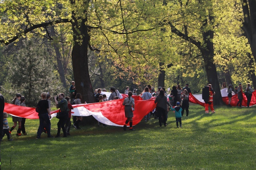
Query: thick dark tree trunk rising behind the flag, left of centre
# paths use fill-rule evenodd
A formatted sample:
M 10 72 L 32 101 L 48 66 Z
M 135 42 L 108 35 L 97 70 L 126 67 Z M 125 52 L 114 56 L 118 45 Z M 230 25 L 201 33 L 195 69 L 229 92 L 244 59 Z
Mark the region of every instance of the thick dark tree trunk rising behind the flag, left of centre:
M 71 1 L 74 4 L 75 1 Z M 87 11 L 84 10 L 84 15 L 87 15 Z M 74 46 L 72 50 L 72 62 L 74 81 L 77 93 L 81 93 L 82 102 L 94 103 L 93 88 L 91 86 L 91 80 L 88 69 L 88 44 L 89 35 L 88 28 L 85 25 L 87 18 L 79 18 L 76 16 L 76 12 L 72 11 L 72 30 Z

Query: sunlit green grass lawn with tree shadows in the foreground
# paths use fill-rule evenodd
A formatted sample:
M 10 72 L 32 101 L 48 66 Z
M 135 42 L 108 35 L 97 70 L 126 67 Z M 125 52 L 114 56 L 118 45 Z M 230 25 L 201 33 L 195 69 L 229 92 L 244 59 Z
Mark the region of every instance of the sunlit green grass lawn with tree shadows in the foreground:
M 255 169 L 256 107 L 215 111 L 206 115 L 191 104 L 181 129 L 170 111 L 166 127 L 155 119 L 132 132 L 88 125 L 72 128 L 68 138 L 35 139 L 39 120 L 27 119 L 27 136 L 3 138 L 2 169 Z M 57 121 L 51 121 L 54 136 Z

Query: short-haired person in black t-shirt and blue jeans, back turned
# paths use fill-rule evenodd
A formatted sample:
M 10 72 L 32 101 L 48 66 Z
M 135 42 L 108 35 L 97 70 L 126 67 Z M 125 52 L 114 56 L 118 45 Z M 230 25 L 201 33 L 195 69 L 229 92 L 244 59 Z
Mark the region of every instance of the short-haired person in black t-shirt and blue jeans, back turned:
M 51 116 L 50 109 L 49 109 L 49 103 L 46 100 L 46 95 L 47 94 L 45 92 L 43 92 L 41 94 L 42 100 L 40 100 L 37 104 L 37 106 L 40 108 L 40 111 L 38 113 L 39 128 L 37 130 L 37 139 L 41 138 L 41 134 L 42 134 L 43 127 L 44 127 L 44 121 L 46 122 L 46 131 L 47 131 L 48 138 L 53 137 L 51 135 L 51 121 L 50 121 L 52 116 Z

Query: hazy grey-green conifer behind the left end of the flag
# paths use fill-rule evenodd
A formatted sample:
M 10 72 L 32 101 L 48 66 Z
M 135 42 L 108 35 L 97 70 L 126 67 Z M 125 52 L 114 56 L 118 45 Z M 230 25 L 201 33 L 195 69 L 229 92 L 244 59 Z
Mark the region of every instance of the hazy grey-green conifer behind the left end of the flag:
M 39 39 L 22 40 L 9 57 L 13 58 L 8 63 L 9 74 L 5 81 L 5 92 L 15 96 L 20 93 L 26 98 L 28 106 L 35 106 L 42 92 L 56 94 L 62 90 L 58 75 L 54 74 L 52 58 L 47 51 L 35 46 Z M 9 97 L 6 100 L 11 100 Z

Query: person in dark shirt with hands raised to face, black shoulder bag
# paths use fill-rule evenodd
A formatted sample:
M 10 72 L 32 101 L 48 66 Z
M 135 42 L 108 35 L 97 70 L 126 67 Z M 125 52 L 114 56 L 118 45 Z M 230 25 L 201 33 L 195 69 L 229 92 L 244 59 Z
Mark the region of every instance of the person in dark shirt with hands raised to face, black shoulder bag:
M 57 123 L 58 131 L 57 131 L 57 135 L 55 137 L 60 137 L 60 128 L 63 131 L 63 137 L 67 137 L 67 132 L 66 132 L 66 129 L 65 129 L 65 123 L 66 123 L 66 121 L 68 119 L 68 116 L 69 116 L 68 101 L 65 99 L 65 96 L 64 96 L 63 93 L 60 93 L 58 95 L 58 99 L 59 99 L 59 101 L 57 100 L 56 96 L 54 97 L 56 107 L 60 108 L 60 112 L 61 112 L 60 114 L 64 114 L 64 115 L 59 119 L 59 121 Z

